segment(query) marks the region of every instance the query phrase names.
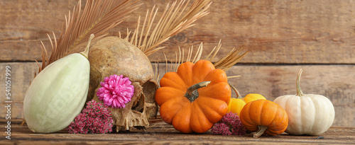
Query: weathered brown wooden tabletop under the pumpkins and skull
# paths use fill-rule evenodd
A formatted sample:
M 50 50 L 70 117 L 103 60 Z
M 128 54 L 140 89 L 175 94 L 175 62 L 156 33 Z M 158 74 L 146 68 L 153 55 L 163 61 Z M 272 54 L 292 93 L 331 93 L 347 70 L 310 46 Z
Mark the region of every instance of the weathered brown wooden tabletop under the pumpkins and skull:
M 151 127 L 131 132 L 111 134 L 68 134 L 62 130 L 54 134 L 34 134 L 22 120 L 11 120 L 11 140 L 6 139 L 5 119 L 0 119 L 0 144 L 355 144 L 355 127 L 331 127 L 320 136 L 222 136 L 204 134 L 182 134 L 159 119 L 151 120 Z M 317 139 L 318 138 L 318 139 Z

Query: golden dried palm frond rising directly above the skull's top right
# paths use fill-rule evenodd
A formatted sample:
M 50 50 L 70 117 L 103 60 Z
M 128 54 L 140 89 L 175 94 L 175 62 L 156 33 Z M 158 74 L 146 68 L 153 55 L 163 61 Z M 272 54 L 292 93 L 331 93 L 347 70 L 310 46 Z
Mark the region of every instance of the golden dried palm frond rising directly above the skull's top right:
M 163 49 L 164 47 L 158 47 L 158 45 L 193 26 L 197 19 L 209 13 L 207 9 L 212 4 L 210 0 L 195 0 L 190 8 L 187 8 L 189 2 L 190 0 L 182 0 L 175 1 L 171 6 L 168 4 L 158 22 L 154 21 L 158 8 L 153 6 L 151 12 L 147 10 L 143 25 L 141 25 L 141 17 L 138 18 L 136 29 L 131 38 L 129 38 L 131 32 L 127 33 L 126 40 L 130 39 L 130 42 L 147 56 Z M 155 28 L 153 28 L 153 23 L 156 23 Z

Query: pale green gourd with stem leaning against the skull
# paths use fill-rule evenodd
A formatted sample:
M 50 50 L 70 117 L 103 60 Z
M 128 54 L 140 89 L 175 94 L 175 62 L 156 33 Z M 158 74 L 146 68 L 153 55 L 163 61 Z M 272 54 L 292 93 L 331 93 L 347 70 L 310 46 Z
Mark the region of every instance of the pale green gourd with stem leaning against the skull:
M 23 100 L 23 115 L 32 132 L 58 132 L 81 112 L 89 89 L 87 55 L 93 37 L 90 35 L 84 52 L 58 59 L 31 82 Z

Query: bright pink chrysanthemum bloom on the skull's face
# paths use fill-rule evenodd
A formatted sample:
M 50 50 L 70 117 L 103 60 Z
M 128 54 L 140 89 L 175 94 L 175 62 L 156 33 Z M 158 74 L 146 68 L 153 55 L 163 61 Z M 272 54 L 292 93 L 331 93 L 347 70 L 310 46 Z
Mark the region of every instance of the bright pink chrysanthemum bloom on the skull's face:
M 126 103 L 131 101 L 134 93 L 134 88 L 131 85 L 128 77 L 113 76 L 106 77 L 104 82 L 101 82 L 102 86 L 97 90 L 97 97 L 99 100 L 104 101 L 104 105 L 108 105 L 111 108 L 124 108 Z

